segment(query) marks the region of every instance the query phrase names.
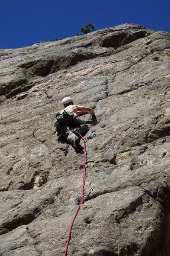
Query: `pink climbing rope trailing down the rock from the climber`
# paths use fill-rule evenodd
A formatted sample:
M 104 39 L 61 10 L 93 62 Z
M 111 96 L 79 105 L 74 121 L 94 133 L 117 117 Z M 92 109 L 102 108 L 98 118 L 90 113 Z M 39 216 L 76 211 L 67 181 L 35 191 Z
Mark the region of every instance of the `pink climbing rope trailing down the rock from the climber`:
M 71 240 L 71 231 L 72 231 L 72 227 L 73 227 L 73 224 L 74 224 L 74 221 L 77 217 L 77 214 L 79 212 L 79 209 L 81 207 L 81 204 L 83 203 L 84 201 L 84 190 L 85 190 L 85 140 L 83 139 L 82 135 L 79 134 L 80 137 L 82 138 L 83 140 L 83 171 L 82 171 L 82 196 L 81 196 L 81 199 L 79 201 L 79 206 L 77 207 L 77 210 L 76 212 L 74 213 L 74 217 L 71 221 L 71 225 L 70 225 L 70 228 L 69 228 L 69 231 L 68 231 L 68 239 L 67 239 L 67 243 L 66 243 L 66 246 L 65 246 L 65 253 L 64 253 L 64 256 L 67 256 L 67 251 L 68 251 L 68 245 L 70 243 L 70 240 Z

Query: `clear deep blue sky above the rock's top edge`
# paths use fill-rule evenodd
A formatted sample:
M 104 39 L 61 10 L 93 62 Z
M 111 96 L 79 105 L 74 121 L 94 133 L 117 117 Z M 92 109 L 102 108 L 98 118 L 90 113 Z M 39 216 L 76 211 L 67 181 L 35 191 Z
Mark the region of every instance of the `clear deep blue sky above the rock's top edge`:
M 88 22 L 170 32 L 169 15 L 169 0 L 0 0 L 0 49 L 74 36 Z

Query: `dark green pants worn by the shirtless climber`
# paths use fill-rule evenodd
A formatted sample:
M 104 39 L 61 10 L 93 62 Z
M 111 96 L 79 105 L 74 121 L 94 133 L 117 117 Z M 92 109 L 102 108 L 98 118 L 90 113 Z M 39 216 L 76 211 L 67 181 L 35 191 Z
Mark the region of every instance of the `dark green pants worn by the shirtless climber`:
M 74 134 L 74 132 L 71 131 L 73 129 L 78 133 L 83 134 L 88 131 L 88 125 L 78 117 L 71 122 L 71 128 L 68 125 L 62 125 L 60 127 L 60 134 L 62 134 L 62 136 L 65 137 L 70 144 L 74 144 L 75 139 L 78 137 L 76 134 Z

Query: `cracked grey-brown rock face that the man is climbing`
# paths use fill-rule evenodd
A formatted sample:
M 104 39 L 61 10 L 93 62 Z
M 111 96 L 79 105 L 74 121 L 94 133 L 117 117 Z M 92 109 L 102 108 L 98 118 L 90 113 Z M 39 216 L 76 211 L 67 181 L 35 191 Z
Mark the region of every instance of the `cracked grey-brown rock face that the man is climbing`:
M 135 24 L 0 50 L 0 255 L 62 256 L 82 155 L 61 99 L 94 108 L 68 256 L 170 256 L 170 34 Z

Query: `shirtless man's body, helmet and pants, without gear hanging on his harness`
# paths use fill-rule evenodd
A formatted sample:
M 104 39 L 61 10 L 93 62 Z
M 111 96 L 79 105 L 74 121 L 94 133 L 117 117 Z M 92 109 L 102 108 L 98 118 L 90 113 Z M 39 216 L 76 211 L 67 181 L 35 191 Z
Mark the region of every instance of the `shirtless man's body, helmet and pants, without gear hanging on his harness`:
M 96 116 L 94 114 L 94 110 L 92 108 L 74 105 L 73 100 L 70 97 L 65 97 L 62 99 L 62 103 L 64 104 L 64 109 L 60 112 L 63 113 L 64 110 L 71 112 L 76 116 L 71 122 L 71 127 L 68 125 L 62 125 L 59 129 L 60 134 L 68 140 L 68 143 L 73 145 L 76 152 L 82 150 L 82 147 L 79 145 L 80 142 L 80 134 L 85 134 L 88 131 L 88 125 L 83 122 L 79 116 L 83 116 L 85 114 L 91 114 L 94 125 L 97 124 Z

